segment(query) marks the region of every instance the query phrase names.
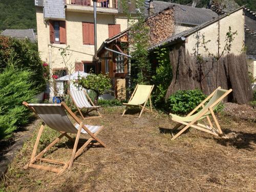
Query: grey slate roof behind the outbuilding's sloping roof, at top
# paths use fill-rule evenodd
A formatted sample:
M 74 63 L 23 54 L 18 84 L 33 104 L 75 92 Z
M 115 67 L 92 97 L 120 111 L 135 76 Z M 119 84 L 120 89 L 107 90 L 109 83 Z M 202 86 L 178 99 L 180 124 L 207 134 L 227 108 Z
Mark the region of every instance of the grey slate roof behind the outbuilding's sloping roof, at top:
M 154 13 L 159 13 L 168 7 L 174 7 L 175 20 L 181 24 L 187 25 L 200 25 L 209 20 L 218 17 L 218 14 L 210 9 L 189 7 L 180 4 L 153 1 Z M 145 3 L 146 10 L 149 7 L 148 3 Z

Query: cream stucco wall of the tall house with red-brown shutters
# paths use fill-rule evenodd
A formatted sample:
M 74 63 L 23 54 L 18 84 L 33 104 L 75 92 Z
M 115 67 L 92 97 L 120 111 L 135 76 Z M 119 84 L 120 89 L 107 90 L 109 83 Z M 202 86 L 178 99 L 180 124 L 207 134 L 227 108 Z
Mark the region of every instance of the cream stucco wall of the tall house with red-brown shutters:
M 70 46 L 72 57 L 70 62 L 93 61 L 94 45 L 83 45 L 82 22 L 93 23 L 93 13 L 66 11 L 67 45 L 50 44 L 49 21 L 44 21 L 41 7 L 36 8 L 38 50 L 42 60 L 50 63 L 50 68 L 65 68 L 59 48 Z M 97 45 L 109 38 L 108 24 L 120 24 L 121 31 L 127 28 L 127 19 L 122 15 L 97 14 Z M 73 66 L 74 68 L 74 66 Z

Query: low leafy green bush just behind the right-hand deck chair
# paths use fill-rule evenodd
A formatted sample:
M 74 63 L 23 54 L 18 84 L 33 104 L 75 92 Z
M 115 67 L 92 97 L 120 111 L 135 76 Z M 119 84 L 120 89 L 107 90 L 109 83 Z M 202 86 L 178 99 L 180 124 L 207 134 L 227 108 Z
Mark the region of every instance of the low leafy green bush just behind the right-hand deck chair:
M 206 95 L 201 90 L 184 90 L 171 95 L 166 103 L 171 113 L 188 114 L 205 98 Z

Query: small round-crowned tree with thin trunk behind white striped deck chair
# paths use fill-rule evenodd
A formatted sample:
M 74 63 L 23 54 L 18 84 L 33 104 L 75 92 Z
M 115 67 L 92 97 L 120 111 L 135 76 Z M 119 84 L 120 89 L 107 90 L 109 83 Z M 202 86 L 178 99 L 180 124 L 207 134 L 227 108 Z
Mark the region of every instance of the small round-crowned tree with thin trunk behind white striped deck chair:
M 82 77 L 78 80 L 78 83 L 84 88 L 88 90 L 93 90 L 96 93 L 96 97 L 94 103 L 98 103 L 98 97 L 104 93 L 111 92 L 111 80 L 109 77 L 106 77 L 102 74 L 93 74 L 90 73 L 86 77 Z

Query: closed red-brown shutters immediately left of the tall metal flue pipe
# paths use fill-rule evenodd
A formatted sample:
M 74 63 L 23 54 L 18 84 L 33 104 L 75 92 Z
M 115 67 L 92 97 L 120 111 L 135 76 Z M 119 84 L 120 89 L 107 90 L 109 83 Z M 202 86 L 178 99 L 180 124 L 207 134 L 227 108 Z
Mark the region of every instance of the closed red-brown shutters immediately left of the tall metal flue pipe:
M 94 24 L 82 23 L 83 45 L 94 45 Z

